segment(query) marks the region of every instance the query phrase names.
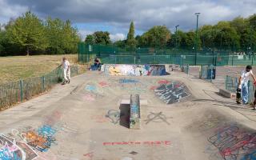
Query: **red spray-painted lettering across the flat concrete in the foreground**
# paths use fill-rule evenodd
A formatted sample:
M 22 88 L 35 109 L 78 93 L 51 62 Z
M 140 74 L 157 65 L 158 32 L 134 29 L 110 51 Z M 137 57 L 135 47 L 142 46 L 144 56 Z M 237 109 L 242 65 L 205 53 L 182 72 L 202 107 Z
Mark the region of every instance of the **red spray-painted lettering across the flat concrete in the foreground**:
M 131 146 L 131 145 L 151 145 L 151 146 L 169 146 L 170 141 L 130 141 L 130 142 L 103 142 L 103 146 Z

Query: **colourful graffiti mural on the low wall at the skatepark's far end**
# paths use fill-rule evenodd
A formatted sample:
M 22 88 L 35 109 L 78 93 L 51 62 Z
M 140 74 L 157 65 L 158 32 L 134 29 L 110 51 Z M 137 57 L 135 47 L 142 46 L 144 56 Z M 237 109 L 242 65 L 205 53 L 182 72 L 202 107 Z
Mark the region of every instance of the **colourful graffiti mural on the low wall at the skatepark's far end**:
M 157 76 L 166 75 L 164 65 L 105 65 L 107 75 Z

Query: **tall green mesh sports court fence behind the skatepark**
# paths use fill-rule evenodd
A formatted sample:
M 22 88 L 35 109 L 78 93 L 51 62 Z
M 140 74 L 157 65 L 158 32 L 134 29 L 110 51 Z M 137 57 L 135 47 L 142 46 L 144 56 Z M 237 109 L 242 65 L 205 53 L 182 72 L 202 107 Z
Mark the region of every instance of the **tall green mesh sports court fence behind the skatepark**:
M 86 63 L 101 58 L 108 64 L 177 64 L 190 66 L 256 65 L 254 52 L 238 54 L 231 50 L 159 50 L 137 48 L 126 50 L 116 46 L 78 44 L 78 61 Z

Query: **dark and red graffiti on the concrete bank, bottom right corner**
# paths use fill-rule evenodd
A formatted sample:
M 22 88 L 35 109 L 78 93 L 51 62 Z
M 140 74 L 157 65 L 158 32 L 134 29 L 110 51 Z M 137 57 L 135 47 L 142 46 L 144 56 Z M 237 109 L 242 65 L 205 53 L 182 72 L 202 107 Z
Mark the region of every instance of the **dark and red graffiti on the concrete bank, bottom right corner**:
M 238 126 L 220 127 L 208 141 L 218 149 L 218 153 L 215 154 L 219 154 L 225 160 L 256 159 L 256 133 L 246 132 Z

